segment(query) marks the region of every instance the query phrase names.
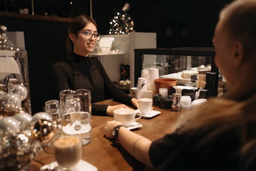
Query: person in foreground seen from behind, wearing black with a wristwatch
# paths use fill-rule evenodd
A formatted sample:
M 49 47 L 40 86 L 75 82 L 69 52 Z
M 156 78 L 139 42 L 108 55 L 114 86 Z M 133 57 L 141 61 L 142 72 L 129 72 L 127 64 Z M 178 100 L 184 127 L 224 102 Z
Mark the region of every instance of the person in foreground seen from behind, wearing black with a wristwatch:
M 256 170 L 255 19 L 255 0 L 234 1 L 220 13 L 212 42 L 228 94 L 183 115 L 173 134 L 153 142 L 119 127 L 131 155 L 154 170 Z M 121 124 L 107 122 L 106 137 Z

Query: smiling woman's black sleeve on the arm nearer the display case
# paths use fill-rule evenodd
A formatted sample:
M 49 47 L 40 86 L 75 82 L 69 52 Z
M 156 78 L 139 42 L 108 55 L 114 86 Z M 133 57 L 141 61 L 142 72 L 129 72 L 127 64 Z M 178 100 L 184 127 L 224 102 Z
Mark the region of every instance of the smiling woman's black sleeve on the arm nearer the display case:
M 97 66 L 104 79 L 105 91 L 108 92 L 109 96 L 113 98 L 115 101 L 133 106 L 131 101 L 132 97 L 128 96 L 126 93 L 124 93 L 123 91 L 115 87 L 114 83 L 111 81 L 108 74 L 106 74 L 105 69 L 103 68 L 100 61 L 98 60 L 97 60 Z

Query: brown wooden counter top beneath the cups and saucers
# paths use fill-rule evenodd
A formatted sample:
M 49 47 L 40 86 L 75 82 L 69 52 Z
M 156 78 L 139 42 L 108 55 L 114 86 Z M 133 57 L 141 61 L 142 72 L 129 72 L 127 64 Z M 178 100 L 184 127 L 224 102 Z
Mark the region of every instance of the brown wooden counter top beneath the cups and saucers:
M 120 104 L 113 100 L 105 100 L 98 104 Z M 135 133 L 145 136 L 150 140 L 156 140 L 165 134 L 173 132 L 174 124 L 182 112 L 172 112 L 154 106 L 161 114 L 137 122 L 143 126 L 133 130 Z M 93 164 L 101 170 L 150 170 L 128 154 L 120 144 L 114 145 L 111 140 L 104 137 L 104 126 L 107 121 L 114 120 L 111 116 L 92 116 L 92 140 L 83 147 L 83 160 Z M 54 161 L 54 157 L 41 151 L 29 164 L 29 170 L 39 170 L 44 164 Z M 84 169 L 86 170 L 86 169 Z

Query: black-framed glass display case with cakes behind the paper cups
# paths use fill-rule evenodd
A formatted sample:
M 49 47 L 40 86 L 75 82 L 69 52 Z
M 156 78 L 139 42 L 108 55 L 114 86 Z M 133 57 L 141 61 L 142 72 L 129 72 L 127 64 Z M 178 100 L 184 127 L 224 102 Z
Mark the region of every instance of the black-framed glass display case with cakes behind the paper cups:
M 206 88 L 211 89 L 211 96 L 223 94 L 226 82 L 214 63 L 214 48 L 135 49 L 134 52 L 135 84 L 141 76 L 141 70 L 157 68 L 159 78 L 173 78 L 178 85 L 196 87 L 193 79 L 182 76 L 185 70 L 195 70 L 199 74 L 208 73 L 211 76 L 206 83 Z

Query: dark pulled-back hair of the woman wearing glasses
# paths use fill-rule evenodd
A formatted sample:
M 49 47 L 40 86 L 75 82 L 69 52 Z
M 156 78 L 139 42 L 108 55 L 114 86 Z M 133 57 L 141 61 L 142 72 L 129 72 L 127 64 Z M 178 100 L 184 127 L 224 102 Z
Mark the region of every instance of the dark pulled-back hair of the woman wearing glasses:
M 76 16 L 69 24 L 69 33 L 73 33 L 75 36 L 77 36 L 77 32 L 86 27 L 89 23 L 94 24 L 98 30 L 97 23 L 93 18 L 87 15 Z M 66 40 L 66 51 L 68 56 L 71 56 L 74 51 L 74 44 L 69 35 Z

